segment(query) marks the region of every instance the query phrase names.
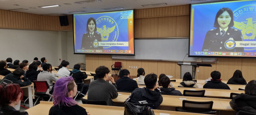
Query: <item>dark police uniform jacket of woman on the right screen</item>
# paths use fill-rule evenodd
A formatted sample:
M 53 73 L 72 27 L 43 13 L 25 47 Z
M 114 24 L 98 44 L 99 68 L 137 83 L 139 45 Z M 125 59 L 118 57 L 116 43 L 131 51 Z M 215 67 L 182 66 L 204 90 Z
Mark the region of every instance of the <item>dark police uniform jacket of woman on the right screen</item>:
M 243 52 L 244 48 L 225 48 L 225 42 L 230 38 L 233 38 L 234 41 L 243 41 L 240 30 L 228 28 L 224 36 L 221 36 L 220 28 L 211 29 L 206 33 L 202 51 Z

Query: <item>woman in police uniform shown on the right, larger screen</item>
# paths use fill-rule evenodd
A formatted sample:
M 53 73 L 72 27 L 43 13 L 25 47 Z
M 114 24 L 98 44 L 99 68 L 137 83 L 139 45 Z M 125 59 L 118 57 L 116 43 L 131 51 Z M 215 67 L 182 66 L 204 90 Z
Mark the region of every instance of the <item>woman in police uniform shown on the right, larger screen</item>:
M 235 41 L 243 41 L 243 37 L 240 30 L 231 28 L 233 26 L 232 10 L 229 8 L 218 10 L 214 22 L 216 29 L 207 31 L 202 51 L 243 52 L 244 48 L 235 48 Z

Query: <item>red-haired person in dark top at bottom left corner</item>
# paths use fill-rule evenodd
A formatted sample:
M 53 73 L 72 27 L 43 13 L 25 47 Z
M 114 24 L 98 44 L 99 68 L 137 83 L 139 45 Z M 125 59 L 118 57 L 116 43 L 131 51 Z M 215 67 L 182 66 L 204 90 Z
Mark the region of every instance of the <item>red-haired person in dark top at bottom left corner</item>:
M 0 115 L 28 115 L 27 112 L 16 110 L 23 98 L 23 91 L 18 84 L 0 85 Z

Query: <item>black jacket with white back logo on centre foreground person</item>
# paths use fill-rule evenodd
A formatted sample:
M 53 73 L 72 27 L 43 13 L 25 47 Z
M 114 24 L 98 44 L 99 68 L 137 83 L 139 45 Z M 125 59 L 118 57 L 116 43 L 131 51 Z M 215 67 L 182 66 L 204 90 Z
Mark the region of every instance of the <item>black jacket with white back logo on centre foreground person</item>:
M 151 91 L 146 87 L 136 88 L 128 99 L 132 103 L 153 103 L 151 108 L 156 109 L 163 102 L 163 97 L 158 89 Z

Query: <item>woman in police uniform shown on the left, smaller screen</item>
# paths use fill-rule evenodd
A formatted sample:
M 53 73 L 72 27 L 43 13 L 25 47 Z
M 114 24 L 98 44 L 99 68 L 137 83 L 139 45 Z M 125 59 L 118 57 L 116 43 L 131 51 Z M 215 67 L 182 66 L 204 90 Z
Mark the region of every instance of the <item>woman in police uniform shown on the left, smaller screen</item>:
M 93 17 L 88 19 L 86 31 L 87 33 L 83 34 L 81 49 L 102 50 L 103 47 L 99 46 L 99 42 L 101 42 L 101 35 L 96 33 L 96 21 Z

